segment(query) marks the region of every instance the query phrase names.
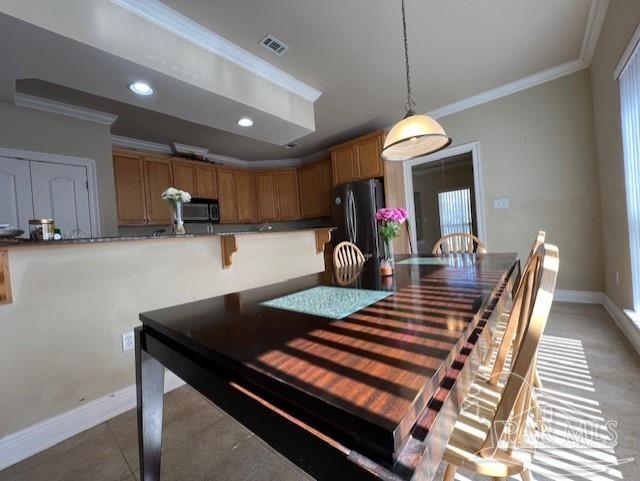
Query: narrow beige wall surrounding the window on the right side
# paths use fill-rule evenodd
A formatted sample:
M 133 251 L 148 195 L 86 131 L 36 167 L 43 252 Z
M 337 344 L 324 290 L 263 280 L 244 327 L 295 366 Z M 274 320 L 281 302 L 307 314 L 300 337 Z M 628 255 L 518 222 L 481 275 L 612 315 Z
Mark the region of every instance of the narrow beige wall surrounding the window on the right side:
M 633 308 L 631 258 L 624 181 L 620 92 L 613 71 L 640 22 L 640 2 L 609 4 L 591 64 L 604 245 L 605 292 L 621 308 Z M 618 273 L 618 276 L 616 276 Z

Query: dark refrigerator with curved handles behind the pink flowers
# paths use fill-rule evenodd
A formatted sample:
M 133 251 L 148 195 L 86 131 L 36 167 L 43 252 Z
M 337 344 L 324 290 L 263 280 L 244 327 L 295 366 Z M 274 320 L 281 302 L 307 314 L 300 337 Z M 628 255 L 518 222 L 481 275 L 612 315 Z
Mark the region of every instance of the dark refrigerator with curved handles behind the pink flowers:
M 333 222 L 337 227 L 331 236 L 334 245 L 347 240 L 357 245 L 366 257 L 381 257 L 384 247 L 375 214 L 382 207 L 384 190 L 379 180 L 337 186 L 332 199 Z

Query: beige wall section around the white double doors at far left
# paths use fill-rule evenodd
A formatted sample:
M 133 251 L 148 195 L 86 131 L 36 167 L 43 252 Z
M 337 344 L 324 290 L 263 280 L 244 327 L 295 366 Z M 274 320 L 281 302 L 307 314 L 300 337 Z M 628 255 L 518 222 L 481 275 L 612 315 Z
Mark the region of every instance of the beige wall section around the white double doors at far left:
M 95 160 L 102 235 L 117 235 L 108 125 L 0 102 L 0 147 Z

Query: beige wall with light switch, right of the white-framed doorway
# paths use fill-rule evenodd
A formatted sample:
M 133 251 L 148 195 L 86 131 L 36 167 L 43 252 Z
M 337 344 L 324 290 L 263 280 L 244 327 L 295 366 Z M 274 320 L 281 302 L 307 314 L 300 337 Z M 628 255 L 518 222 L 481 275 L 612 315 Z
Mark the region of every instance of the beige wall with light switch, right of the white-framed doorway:
M 549 242 L 560 249 L 558 288 L 602 291 L 600 201 L 588 71 L 449 115 L 440 122 L 454 146 L 479 142 L 484 240 L 489 250 L 517 251 L 526 259 L 538 229 L 545 229 Z M 493 209 L 493 200 L 500 197 L 509 198 L 510 208 Z

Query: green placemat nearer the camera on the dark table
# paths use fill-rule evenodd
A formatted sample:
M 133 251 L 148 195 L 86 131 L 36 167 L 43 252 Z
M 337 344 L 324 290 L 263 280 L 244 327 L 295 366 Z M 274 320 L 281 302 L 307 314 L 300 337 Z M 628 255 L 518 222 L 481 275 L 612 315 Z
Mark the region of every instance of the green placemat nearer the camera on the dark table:
M 319 286 L 262 303 L 287 311 L 342 319 L 391 295 L 389 291 Z

